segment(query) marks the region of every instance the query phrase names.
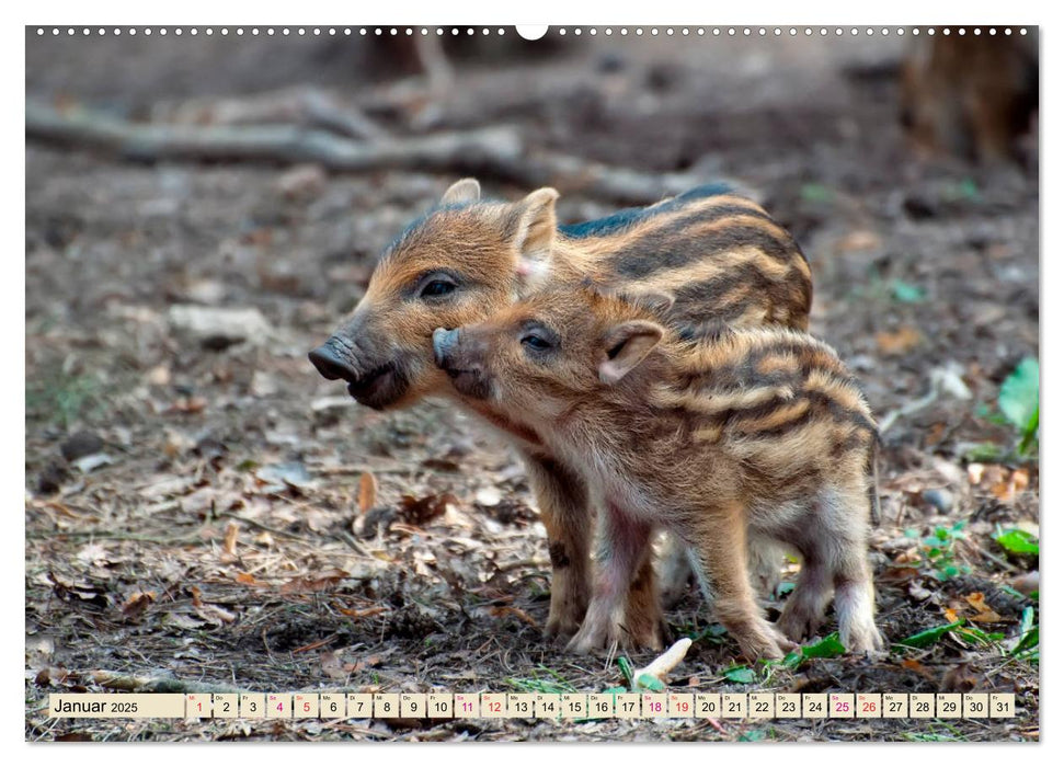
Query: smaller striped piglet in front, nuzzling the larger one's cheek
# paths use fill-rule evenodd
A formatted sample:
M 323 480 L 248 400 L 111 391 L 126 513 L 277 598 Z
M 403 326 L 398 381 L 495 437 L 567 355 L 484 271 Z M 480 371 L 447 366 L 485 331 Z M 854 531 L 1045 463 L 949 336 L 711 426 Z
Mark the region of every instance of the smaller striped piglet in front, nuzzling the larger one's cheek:
M 787 329 L 684 341 L 644 304 L 547 289 L 433 337 L 453 385 L 535 430 L 605 510 L 570 649 L 623 642 L 623 596 L 661 527 L 688 547 L 747 657 L 780 657 L 815 632 L 833 593 L 843 643 L 882 648 L 867 558 L 877 428 L 838 356 Z M 747 547 L 769 540 L 802 558 L 777 626 L 747 575 Z

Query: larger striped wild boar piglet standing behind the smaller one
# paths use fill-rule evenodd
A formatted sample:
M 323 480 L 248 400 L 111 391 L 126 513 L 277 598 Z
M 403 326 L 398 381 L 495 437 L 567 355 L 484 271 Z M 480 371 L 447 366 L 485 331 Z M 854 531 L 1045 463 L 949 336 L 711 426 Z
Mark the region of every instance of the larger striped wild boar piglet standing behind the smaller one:
M 535 430 L 462 397 L 433 365 L 436 328 L 480 322 L 534 287 L 579 286 L 585 279 L 618 289 L 672 296 L 659 320 L 694 337 L 720 324 L 809 324 L 812 275 L 801 248 L 751 199 L 709 184 L 641 208 L 559 225 L 558 192 L 535 190 L 515 202 L 481 196 L 462 179 L 388 245 L 365 295 L 332 336 L 310 353 L 322 376 L 342 380 L 358 402 L 378 410 L 447 397 L 501 432 L 528 471 L 553 568 L 545 632 L 568 640 L 591 597 L 590 557 L 598 510 L 576 472 Z M 686 558 L 671 547 L 670 592 L 687 586 Z M 680 552 L 682 554 L 682 552 Z M 771 583 L 773 550 L 751 548 Z M 633 644 L 660 648 L 661 607 L 652 561 L 632 579 Z M 638 616 L 647 616 L 638 621 Z M 634 621 L 634 622 L 633 622 Z

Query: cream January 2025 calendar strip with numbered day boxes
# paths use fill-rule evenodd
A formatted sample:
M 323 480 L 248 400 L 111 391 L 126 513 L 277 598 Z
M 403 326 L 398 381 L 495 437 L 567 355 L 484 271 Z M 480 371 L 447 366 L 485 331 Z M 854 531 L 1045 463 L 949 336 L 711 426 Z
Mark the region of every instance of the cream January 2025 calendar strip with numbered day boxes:
M 57 719 L 1003 719 L 1012 692 L 80 692 Z

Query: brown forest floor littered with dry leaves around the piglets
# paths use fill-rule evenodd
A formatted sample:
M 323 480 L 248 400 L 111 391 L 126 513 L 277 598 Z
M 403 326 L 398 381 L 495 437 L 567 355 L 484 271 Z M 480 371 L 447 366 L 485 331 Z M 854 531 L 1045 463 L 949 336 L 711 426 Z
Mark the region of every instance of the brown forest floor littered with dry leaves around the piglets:
M 743 683 L 736 645 L 693 591 L 668 611 L 676 637 L 696 638 L 673 686 L 1008 691 L 1015 719 L 721 731 L 696 720 L 48 719 L 48 694 L 64 690 L 599 691 L 623 679 L 616 663 L 541 634 L 549 563 L 516 455 L 438 403 L 361 408 L 307 360 L 380 249 L 457 171 L 135 164 L 30 141 L 26 739 L 1038 740 L 1038 655 L 1012 652 L 1026 608 L 1038 623 L 1026 596 L 1038 559 L 994 539 L 1037 535 L 1038 460 L 1016 458 L 1015 432 L 993 417 L 1003 381 L 1039 351 L 1037 154 L 1026 168 L 917 158 L 896 118 L 902 47 L 466 42 L 447 49 L 457 77 L 428 127 L 381 106 L 422 83 L 381 41 L 27 34 L 26 87 L 141 119 L 192 98 L 313 85 L 375 105 L 367 114 L 396 134 L 516 125 L 530 146 L 743 183 L 802 244 L 813 330 L 886 426 L 871 551 L 882 630 L 894 643 L 958 619 L 974 631 L 755 667 Z M 528 191 L 481 181 L 503 198 Z M 560 191 L 567 221 L 618 206 Z M 214 308 L 248 310 L 247 327 L 190 329 L 190 312 Z M 937 529 L 950 542 L 933 550 Z M 770 615 L 782 598 L 766 602 Z

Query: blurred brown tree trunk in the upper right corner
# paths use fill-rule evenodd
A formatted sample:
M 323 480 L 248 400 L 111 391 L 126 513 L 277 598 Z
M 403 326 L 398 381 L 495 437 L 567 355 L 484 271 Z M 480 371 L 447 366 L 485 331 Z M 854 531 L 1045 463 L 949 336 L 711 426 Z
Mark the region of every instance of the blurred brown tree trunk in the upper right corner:
M 913 38 L 902 62 L 902 123 L 928 154 L 1023 161 L 1038 112 L 1038 34 L 936 34 Z

